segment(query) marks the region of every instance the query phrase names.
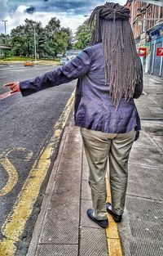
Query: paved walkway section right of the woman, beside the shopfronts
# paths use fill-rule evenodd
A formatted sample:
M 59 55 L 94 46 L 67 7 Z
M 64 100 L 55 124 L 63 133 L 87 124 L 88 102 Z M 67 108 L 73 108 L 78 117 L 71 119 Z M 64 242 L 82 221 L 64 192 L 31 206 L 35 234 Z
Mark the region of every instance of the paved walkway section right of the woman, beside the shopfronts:
M 142 131 L 130 154 L 123 222 L 118 225 L 123 255 L 163 255 L 163 80 L 144 75 L 136 101 Z

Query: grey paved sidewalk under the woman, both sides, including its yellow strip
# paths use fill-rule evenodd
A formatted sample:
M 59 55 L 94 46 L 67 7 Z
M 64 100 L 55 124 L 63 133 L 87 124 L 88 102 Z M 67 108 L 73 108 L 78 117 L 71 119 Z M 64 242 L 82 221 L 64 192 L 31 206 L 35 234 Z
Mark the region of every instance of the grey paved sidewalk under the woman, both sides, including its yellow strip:
M 126 209 L 118 224 L 120 237 L 110 216 L 106 231 L 86 217 L 86 209 L 92 206 L 88 165 L 72 111 L 28 256 L 163 255 L 163 86 L 161 79 L 149 75 L 144 82 L 145 93 L 136 101 L 143 131 L 130 154 Z M 108 188 L 108 200 L 109 196 Z

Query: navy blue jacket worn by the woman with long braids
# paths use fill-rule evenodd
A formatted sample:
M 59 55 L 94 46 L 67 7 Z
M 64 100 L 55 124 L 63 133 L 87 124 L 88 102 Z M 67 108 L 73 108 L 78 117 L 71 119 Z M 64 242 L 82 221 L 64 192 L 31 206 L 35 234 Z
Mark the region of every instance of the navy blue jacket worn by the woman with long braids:
M 121 99 L 116 110 L 109 97 L 109 86 L 105 84 L 104 56 L 101 43 L 87 47 L 73 61 L 38 76 L 20 82 L 23 96 L 43 89 L 77 80 L 75 97 L 75 124 L 102 132 L 124 133 L 132 128 L 140 130 L 140 119 L 134 98 L 143 92 L 143 77 L 136 85 L 134 98 Z

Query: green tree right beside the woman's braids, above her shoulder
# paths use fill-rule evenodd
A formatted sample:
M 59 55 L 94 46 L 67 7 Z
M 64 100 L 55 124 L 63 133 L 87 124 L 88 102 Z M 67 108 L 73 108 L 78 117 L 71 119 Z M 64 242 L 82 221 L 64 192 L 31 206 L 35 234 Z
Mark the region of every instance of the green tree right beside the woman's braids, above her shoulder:
M 74 48 L 83 50 L 89 46 L 90 43 L 90 27 L 88 25 L 88 20 L 85 20 L 82 25 L 77 28 L 77 33 L 75 36 L 76 42 L 74 43 Z

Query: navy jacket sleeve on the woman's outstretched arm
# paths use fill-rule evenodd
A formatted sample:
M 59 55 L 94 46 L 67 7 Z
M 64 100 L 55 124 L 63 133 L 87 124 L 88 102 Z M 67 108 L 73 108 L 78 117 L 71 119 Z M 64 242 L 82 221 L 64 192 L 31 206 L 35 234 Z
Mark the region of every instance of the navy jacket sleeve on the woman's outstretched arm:
M 37 76 L 35 79 L 20 82 L 20 92 L 22 96 L 28 96 L 34 92 L 78 79 L 90 70 L 90 62 L 90 51 L 89 48 L 86 48 L 72 61 L 69 61 L 67 65 L 46 72 L 46 74 Z

